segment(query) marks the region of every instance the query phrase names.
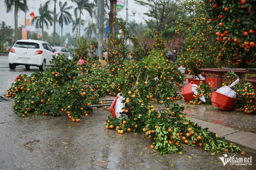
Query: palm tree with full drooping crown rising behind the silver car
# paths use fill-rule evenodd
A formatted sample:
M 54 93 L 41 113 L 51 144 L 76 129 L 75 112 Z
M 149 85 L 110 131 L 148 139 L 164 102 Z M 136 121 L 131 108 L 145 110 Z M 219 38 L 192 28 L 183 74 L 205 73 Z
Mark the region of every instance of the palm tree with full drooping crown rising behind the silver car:
M 61 26 L 61 46 L 62 46 L 62 29 L 63 29 L 63 22 L 67 25 L 72 21 L 72 15 L 68 12 L 68 10 L 72 9 L 72 6 L 67 7 L 67 1 L 62 4 L 62 2 L 59 2 L 60 5 L 60 12 L 57 13 L 59 24 Z

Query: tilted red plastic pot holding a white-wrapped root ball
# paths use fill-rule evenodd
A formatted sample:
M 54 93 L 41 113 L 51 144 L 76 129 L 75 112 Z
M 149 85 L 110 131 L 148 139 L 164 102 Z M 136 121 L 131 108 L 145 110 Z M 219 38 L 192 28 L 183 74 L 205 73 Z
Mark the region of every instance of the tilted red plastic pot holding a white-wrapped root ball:
M 212 91 L 211 102 L 213 106 L 217 106 L 223 110 L 230 110 L 233 108 L 237 99 L 226 96 L 224 94 Z

